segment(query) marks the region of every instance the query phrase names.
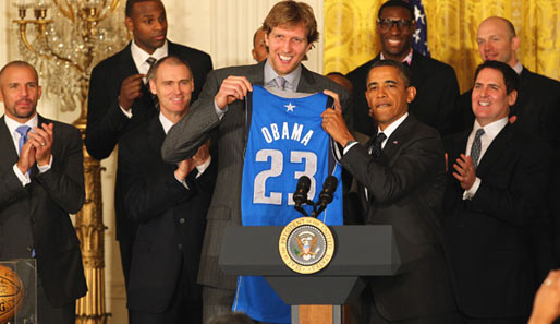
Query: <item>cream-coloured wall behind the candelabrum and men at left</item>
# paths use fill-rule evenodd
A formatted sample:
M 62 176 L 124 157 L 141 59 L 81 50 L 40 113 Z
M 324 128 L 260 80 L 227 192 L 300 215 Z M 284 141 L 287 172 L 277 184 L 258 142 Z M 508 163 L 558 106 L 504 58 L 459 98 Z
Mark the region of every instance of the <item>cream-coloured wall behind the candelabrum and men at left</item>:
M 12 3 L 15 0 L 0 3 L 0 65 L 19 59 L 15 25 L 12 20 L 16 12 Z M 261 25 L 263 20 L 276 0 L 163 0 L 167 9 L 169 31 L 168 38 L 174 43 L 185 44 L 208 52 L 212 57 L 215 68 L 253 63 L 251 49 L 253 34 Z M 322 0 L 304 0 L 315 10 L 319 31 L 322 35 Z M 121 1 L 124 7 L 125 0 Z M 123 26 L 124 27 L 124 26 Z M 305 65 L 316 72 L 322 71 L 322 38 L 315 49 L 308 53 Z M 41 79 L 41 84 L 48 81 Z M 60 112 L 53 108 L 56 98 L 42 98 L 38 111 L 49 118 L 73 122 L 75 112 Z M 3 105 L 0 105 L 0 115 Z M 108 227 L 105 236 L 106 260 L 106 298 L 107 311 L 112 313 L 109 324 L 125 324 L 125 288 L 122 277 L 119 248 L 114 240 L 114 173 L 115 152 L 101 165 L 106 170 L 101 173 L 104 223 Z

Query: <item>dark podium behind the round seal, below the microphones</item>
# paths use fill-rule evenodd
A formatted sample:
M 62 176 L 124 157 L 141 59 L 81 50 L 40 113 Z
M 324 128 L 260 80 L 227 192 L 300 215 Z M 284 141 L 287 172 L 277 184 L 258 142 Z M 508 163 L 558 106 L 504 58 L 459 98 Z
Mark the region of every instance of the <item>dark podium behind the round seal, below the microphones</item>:
M 229 275 L 263 276 L 292 305 L 292 324 L 342 324 L 341 305 L 357 297 L 364 277 L 393 276 L 413 263 L 412 245 L 391 226 L 329 226 L 334 255 L 318 273 L 291 271 L 280 257 L 281 226 L 228 228 L 219 265 Z M 330 320 L 330 321 L 329 321 Z

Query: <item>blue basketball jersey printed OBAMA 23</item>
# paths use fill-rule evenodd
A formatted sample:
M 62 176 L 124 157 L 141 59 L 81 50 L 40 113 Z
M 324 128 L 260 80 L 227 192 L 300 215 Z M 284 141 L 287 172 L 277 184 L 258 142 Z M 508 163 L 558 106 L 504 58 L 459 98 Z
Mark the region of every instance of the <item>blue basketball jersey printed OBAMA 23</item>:
M 309 177 L 307 197 L 316 202 L 322 182 L 332 175 L 338 178 L 339 185 L 332 203 L 318 219 L 327 225 L 342 225 L 341 167 L 334 159 L 334 146 L 322 130 L 320 117 L 332 100 L 322 93 L 289 93 L 276 88 L 269 92 L 253 85 L 253 93 L 247 95 L 246 103 L 242 224 L 283 226 L 302 217 L 294 209 L 292 199 L 300 177 Z M 311 206 L 305 206 L 305 209 L 311 215 Z M 290 307 L 282 302 L 263 277 L 239 277 L 232 309 L 260 322 L 291 322 Z

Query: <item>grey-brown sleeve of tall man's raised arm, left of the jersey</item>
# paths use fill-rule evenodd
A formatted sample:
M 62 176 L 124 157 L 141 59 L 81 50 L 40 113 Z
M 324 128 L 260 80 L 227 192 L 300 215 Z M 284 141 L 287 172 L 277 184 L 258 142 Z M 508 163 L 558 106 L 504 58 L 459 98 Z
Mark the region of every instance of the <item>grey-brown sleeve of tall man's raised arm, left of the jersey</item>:
M 161 156 L 165 161 L 179 163 L 190 158 L 200 145 L 210 139 L 210 131 L 220 123 L 214 106 L 214 97 L 219 87 L 220 82 L 212 71 L 208 74 L 198 100 L 193 104 L 188 113 L 168 132 L 161 147 Z

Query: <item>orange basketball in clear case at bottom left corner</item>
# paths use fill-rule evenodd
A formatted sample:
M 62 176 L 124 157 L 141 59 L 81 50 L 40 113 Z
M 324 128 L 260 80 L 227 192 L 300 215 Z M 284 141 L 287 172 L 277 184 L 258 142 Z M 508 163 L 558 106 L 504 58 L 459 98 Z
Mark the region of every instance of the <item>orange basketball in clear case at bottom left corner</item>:
M 10 267 L 0 264 L 0 324 L 12 320 L 23 301 L 23 284 Z

